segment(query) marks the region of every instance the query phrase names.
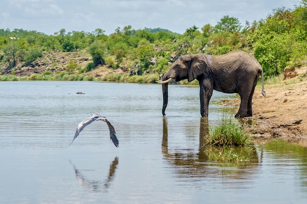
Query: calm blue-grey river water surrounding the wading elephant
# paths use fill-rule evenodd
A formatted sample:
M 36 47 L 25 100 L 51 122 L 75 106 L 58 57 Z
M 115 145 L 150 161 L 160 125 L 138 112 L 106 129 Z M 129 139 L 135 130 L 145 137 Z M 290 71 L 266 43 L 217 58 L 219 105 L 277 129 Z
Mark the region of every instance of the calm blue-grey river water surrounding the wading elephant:
M 82 91 L 85 94 L 76 94 Z M 204 147 L 199 88 L 101 82 L 0 82 L 0 204 L 306 204 L 307 147 L 256 144 L 251 162 L 215 163 Z M 211 101 L 231 98 L 214 92 Z M 72 141 L 77 124 L 102 121 Z

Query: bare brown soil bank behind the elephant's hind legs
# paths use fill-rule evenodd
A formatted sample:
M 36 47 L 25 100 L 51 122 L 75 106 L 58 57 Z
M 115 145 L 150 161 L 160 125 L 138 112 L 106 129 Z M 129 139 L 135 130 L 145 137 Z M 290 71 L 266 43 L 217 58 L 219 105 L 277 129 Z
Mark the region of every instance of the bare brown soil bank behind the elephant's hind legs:
M 285 73 L 283 84 L 265 85 L 266 97 L 257 86 L 253 116 L 240 119 L 249 125 L 246 131 L 256 139 L 283 138 L 307 146 L 307 74 L 303 76 L 306 72 L 307 67 L 300 68 L 296 74 Z M 223 104 L 237 110 L 240 99 L 224 100 Z

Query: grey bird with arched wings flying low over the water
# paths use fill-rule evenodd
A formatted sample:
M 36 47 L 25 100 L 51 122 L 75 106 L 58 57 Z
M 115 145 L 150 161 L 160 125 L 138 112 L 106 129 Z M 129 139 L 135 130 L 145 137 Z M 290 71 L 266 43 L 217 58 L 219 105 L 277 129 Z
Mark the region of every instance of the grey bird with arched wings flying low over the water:
M 85 120 L 83 120 L 82 122 L 80 122 L 78 124 L 78 127 L 77 127 L 77 130 L 76 130 L 76 133 L 75 133 L 75 136 L 74 136 L 74 139 L 73 141 L 77 138 L 77 136 L 80 134 L 80 132 L 89 124 L 91 124 L 92 122 L 94 121 L 98 121 L 98 120 L 102 120 L 104 122 L 106 122 L 106 124 L 108 125 L 109 127 L 109 131 L 110 131 L 110 139 L 112 140 L 112 142 L 114 143 L 114 145 L 116 147 L 118 147 L 118 139 L 116 137 L 116 132 L 115 132 L 115 129 L 114 127 L 111 125 L 111 123 L 106 119 L 106 117 L 102 116 L 102 115 L 99 115 L 99 114 L 92 114 L 91 116 L 89 116 L 88 118 L 86 118 Z M 70 145 L 73 143 L 73 141 L 70 143 Z

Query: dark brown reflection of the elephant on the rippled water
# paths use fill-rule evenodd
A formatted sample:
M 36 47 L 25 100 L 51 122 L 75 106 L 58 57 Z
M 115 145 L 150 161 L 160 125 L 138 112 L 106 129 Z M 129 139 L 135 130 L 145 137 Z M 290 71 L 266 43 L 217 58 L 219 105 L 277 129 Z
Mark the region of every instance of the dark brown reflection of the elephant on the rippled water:
M 167 117 L 163 117 L 163 136 L 162 136 L 162 155 L 176 171 L 180 177 L 220 177 L 220 175 L 231 177 L 233 179 L 248 179 L 256 172 L 258 165 L 258 156 L 256 148 L 252 154 L 252 162 L 239 162 L 239 163 L 215 163 L 209 161 L 210 147 L 205 145 L 205 136 L 209 132 L 208 118 L 200 118 L 200 133 L 199 133 L 199 149 L 178 149 L 170 148 L 168 141 L 168 124 Z M 223 151 L 221 148 L 220 151 Z M 210 166 L 222 168 L 210 168 Z M 231 168 L 225 171 L 223 167 L 238 167 Z M 226 173 L 226 174 L 225 174 Z

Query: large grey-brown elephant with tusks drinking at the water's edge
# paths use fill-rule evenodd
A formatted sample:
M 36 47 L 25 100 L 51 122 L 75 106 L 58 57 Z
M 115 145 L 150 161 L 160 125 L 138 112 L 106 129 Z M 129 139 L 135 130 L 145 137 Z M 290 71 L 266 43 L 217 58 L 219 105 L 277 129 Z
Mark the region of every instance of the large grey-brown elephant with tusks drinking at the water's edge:
M 238 93 L 241 103 L 235 117 L 252 116 L 252 99 L 259 73 L 262 81 L 261 93 L 266 97 L 261 65 L 247 52 L 235 50 L 223 55 L 181 55 L 166 71 L 162 80 L 156 81 L 162 84 L 162 114 L 165 116 L 168 102 L 168 83 L 173 79 L 176 81 L 187 79 L 188 82 L 197 79 L 200 86 L 202 117 L 208 117 L 208 105 L 213 90 Z

